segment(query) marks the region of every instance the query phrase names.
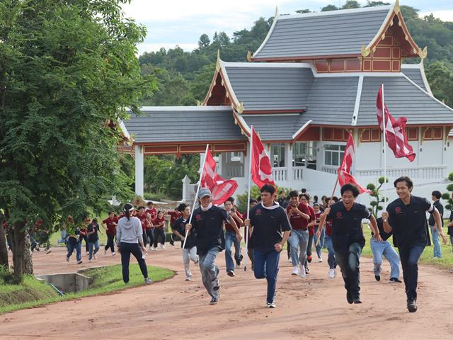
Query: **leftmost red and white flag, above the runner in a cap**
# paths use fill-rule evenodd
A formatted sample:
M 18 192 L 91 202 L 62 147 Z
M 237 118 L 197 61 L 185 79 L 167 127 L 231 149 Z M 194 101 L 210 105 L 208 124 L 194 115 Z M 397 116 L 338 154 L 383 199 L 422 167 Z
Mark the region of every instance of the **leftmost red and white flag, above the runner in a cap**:
M 201 175 L 202 188 L 209 188 L 212 193 L 212 204 L 221 205 L 227 198 L 233 196 L 238 183 L 234 179 L 225 181 L 215 172 L 215 159 L 207 150 L 205 167 Z

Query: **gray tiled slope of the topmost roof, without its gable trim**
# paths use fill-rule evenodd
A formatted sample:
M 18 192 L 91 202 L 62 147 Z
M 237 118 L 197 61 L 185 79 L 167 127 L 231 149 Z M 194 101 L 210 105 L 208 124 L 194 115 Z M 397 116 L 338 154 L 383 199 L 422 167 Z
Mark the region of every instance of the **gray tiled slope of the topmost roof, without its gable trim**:
M 391 6 L 279 16 L 253 58 L 358 55 L 377 35 Z

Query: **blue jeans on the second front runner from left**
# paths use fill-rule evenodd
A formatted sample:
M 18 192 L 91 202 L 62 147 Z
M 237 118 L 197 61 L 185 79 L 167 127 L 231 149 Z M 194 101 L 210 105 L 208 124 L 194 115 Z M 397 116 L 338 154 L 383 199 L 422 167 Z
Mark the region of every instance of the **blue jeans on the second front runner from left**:
M 275 287 L 277 286 L 280 253 L 277 253 L 275 249 L 253 249 L 253 259 L 253 273 L 256 278 L 266 278 L 266 280 L 268 280 L 267 301 L 269 303 L 273 302 Z

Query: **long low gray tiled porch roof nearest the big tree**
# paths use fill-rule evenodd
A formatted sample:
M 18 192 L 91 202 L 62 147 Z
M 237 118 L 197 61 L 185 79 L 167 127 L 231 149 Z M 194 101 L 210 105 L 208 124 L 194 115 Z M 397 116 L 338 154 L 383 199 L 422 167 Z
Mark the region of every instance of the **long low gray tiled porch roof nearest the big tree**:
M 246 139 L 234 124 L 230 106 L 148 107 L 142 112 L 124 122 L 135 142 Z

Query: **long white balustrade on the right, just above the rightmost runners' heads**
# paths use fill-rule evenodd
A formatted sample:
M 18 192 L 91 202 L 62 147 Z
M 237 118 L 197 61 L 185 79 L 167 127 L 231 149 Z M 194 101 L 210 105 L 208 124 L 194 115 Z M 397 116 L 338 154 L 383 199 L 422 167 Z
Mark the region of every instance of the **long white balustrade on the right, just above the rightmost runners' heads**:
M 408 176 L 414 179 L 443 179 L 447 166 L 420 166 L 417 168 L 387 169 L 388 177 Z M 382 176 L 383 169 L 365 170 L 357 169 L 355 176 Z

